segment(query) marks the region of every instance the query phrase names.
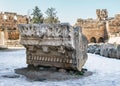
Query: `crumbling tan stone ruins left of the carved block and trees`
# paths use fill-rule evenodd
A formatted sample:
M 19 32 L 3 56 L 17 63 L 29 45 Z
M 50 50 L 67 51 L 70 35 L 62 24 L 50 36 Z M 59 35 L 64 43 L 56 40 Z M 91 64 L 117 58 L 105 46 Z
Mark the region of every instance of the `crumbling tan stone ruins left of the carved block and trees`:
M 0 47 L 16 46 L 19 44 L 17 24 L 26 24 L 27 17 L 16 13 L 0 13 Z

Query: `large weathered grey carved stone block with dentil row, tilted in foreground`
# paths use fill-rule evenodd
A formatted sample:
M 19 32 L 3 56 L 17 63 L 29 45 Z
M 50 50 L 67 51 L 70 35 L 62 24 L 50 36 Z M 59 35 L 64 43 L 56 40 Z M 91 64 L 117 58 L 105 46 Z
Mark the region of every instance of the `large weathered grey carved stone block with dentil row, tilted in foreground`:
M 81 71 L 87 60 L 87 39 L 80 28 L 61 23 L 20 24 L 18 29 L 28 65 Z

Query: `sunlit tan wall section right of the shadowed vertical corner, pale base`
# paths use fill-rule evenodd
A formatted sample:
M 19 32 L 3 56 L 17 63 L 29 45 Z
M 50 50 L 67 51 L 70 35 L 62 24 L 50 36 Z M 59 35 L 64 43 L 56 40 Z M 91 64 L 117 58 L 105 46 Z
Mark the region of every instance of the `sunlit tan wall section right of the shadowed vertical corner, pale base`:
M 120 44 L 120 14 L 116 14 L 114 18 L 108 20 L 108 43 Z

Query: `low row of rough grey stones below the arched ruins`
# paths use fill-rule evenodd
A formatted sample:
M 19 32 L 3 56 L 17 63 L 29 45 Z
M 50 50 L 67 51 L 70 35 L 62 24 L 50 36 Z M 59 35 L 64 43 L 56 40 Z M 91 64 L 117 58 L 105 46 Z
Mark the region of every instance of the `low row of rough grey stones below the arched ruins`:
M 87 52 L 120 59 L 120 45 L 118 44 L 89 44 Z

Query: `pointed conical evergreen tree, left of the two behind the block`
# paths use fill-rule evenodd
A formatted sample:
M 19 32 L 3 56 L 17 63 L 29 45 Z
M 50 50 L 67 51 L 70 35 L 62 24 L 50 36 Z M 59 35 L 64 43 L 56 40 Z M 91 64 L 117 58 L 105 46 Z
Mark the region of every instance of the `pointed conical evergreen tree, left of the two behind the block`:
M 41 10 L 38 8 L 38 6 L 35 6 L 31 15 L 33 15 L 32 23 L 43 23 L 43 14 L 41 13 Z

